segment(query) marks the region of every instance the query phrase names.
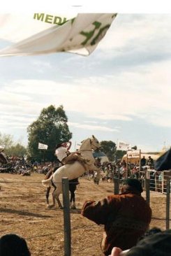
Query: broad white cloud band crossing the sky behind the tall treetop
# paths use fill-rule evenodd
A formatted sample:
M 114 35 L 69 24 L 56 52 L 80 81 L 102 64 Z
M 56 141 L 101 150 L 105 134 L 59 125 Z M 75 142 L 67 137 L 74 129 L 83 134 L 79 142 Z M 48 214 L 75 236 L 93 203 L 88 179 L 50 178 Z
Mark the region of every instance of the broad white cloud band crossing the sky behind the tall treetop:
M 170 68 L 171 62 L 161 62 L 70 83 L 14 80 L 1 89 L 1 111 L 38 115 L 50 104 L 62 104 L 66 111 L 79 111 L 89 118 L 131 121 L 136 116 L 170 127 Z

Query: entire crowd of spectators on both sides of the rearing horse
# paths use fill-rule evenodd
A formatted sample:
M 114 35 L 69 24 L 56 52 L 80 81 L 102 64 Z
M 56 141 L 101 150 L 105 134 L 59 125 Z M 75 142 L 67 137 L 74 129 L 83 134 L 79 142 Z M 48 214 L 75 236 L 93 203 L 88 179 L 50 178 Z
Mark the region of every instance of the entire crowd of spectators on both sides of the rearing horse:
M 0 164 L 0 173 L 15 173 L 22 176 L 30 176 L 31 173 L 43 173 L 46 174 L 54 166 L 58 166 L 59 162 L 36 162 L 28 161 L 24 157 L 13 157 L 7 156 L 8 164 Z M 149 169 L 149 179 L 150 179 L 150 190 L 156 192 L 163 192 L 162 190 L 162 180 L 163 172 L 154 170 L 154 160 L 149 157 L 141 159 L 141 170 L 139 171 L 139 163 L 128 162 L 126 166 L 126 161 L 118 160 L 117 162 L 101 162 L 100 158 L 96 158 L 96 166 L 101 170 L 101 181 L 102 182 L 112 182 L 114 178 L 119 178 L 123 180 L 124 178 L 138 178 L 142 180 L 144 184 L 144 175 Z M 94 178 L 94 183 L 96 181 L 96 172 L 89 171 L 88 175 L 85 173 L 87 178 Z

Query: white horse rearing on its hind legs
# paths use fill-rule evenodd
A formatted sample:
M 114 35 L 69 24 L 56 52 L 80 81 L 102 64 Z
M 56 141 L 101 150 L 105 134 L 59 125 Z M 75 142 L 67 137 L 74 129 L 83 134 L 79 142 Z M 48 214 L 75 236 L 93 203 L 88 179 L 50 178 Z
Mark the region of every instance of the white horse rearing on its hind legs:
M 45 187 L 48 187 L 49 185 L 51 185 L 51 183 L 54 183 L 54 185 L 57 187 L 56 190 L 54 190 L 54 192 L 52 193 L 52 196 L 54 197 L 54 199 L 57 199 L 59 208 L 62 208 L 61 201 L 59 200 L 59 195 L 62 193 L 61 180 L 63 177 L 67 177 L 68 180 L 73 180 L 82 176 L 84 172 L 91 170 L 97 171 L 98 177 L 100 178 L 100 169 L 98 169 L 94 165 L 95 159 L 92 152 L 92 150 L 96 150 L 100 147 L 101 145 L 94 135 L 91 138 L 85 139 L 84 141 L 82 141 L 82 145 L 80 145 L 80 153 L 81 156 L 84 157 L 84 159 L 88 160 L 87 164 L 84 164 L 86 166 L 86 170 L 80 162 L 75 161 L 72 164 L 65 164 L 64 166 L 61 166 L 59 169 L 57 169 L 57 171 L 52 174 L 52 176 L 50 176 L 49 179 L 42 180 L 42 183 Z M 54 206 L 54 202 L 55 200 L 53 200 L 53 205 L 51 207 Z

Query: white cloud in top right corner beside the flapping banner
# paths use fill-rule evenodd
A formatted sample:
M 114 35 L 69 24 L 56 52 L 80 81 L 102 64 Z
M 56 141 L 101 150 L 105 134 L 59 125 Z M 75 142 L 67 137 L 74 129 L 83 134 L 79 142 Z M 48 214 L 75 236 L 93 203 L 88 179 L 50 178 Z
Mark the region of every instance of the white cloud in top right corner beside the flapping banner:
M 132 45 L 133 50 L 150 46 L 151 50 L 161 51 L 163 45 L 160 45 L 160 42 L 164 37 L 165 48 L 170 49 L 170 44 L 167 42 L 167 38 L 168 40 L 171 38 L 170 27 L 171 15 L 159 13 L 150 15 L 118 14 L 98 47 L 103 50 L 104 57 L 110 58 L 113 58 L 114 55 L 126 54 L 123 49 L 128 45 Z M 110 54 L 111 50 L 114 50 L 112 55 Z

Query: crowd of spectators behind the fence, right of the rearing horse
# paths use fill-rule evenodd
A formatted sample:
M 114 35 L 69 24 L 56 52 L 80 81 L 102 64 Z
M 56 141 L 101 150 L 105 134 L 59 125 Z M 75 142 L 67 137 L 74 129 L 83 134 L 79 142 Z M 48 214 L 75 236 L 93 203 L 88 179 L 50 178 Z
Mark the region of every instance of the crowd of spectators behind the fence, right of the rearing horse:
M 137 178 L 141 180 L 144 187 L 145 183 L 145 173 L 147 178 L 149 178 L 149 187 L 151 191 L 165 192 L 165 176 L 163 171 L 156 171 L 154 169 L 154 160 L 149 157 L 141 159 L 141 167 L 139 162 L 131 163 L 128 162 L 126 166 L 126 161 L 118 160 L 117 162 L 103 162 L 101 163 L 100 158 L 96 158 L 96 166 L 101 170 L 101 181 L 102 182 L 112 182 L 114 178 L 119 178 L 119 180 L 124 180 L 124 178 Z M 87 174 L 86 174 L 87 175 Z M 94 171 L 89 171 L 87 178 L 94 178 L 94 183 L 96 182 L 97 173 Z M 164 184 L 162 189 L 162 183 Z

